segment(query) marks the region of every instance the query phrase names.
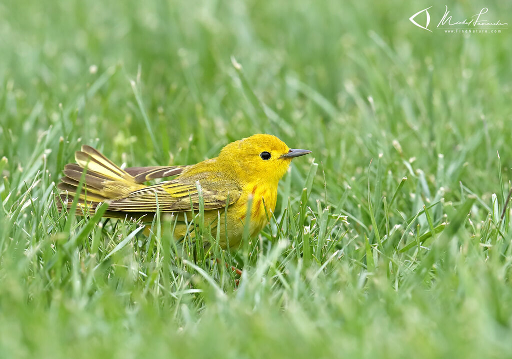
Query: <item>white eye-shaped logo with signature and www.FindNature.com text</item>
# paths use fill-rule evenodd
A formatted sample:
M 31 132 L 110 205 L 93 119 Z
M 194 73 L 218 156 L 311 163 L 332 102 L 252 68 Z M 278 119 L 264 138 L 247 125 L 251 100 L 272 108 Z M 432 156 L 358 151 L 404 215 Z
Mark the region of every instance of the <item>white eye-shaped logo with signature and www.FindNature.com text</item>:
M 445 33 L 501 33 L 502 29 L 508 29 L 506 26 L 508 23 L 502 23 L 501 20 L 488 20 L 485 18 L 484 14 L 486 14 L 489 9 L 482 8 L 479 13 L 473 15 L 468 19 L 467 17 L 464 19 L 454 19 L 452 15 L 450 15 L 450 10 L 448 10 L 448 6 L 445 5 L 444 14 L 440 17 L 439 23 L 434 28 L 434 30 L 442 29 Z M 409 20 L 415 26 L 420 29 L 433 32 L 429 29 L 430 25 L 430 13 L 428 7 L 426 9 L 420 10 L 414 15 L 412 15 Z M 416 21 L 416 17 L 425 13 L 426 15 L 426 23 L 425 26 L 422 26 L 418 23 L 421 22 L 419 19 Z

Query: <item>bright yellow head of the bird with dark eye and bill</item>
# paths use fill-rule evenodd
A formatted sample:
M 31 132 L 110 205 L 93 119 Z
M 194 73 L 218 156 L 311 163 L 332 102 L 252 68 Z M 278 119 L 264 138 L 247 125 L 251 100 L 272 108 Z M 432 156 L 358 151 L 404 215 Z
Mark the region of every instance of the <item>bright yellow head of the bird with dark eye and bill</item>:
M 283 177 L 295 157 L 311 153 L 309 150 L 290 149 L 271 134 L 251 137 L 226 145 L 218 161 L 239 175 L 253 181 L 277 182 Z

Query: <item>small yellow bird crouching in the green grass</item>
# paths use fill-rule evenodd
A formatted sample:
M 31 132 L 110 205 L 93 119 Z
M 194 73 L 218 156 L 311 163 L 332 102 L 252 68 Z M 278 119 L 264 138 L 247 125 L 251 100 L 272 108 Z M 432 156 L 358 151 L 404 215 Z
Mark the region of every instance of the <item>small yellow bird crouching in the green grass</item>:
M 198 188 L 201 188 L 204 223 L 210 224 L 215 237 L 220 215 L 220 245 L 225 249 L 228 243 L 230 247 L 237 246 L 242 239 L 249 199 L 252 199 L 249 235 L 258 234 L 268 223 L 275 209 L 279 180 L 293 158 L 308 153 L 311 151 L 290 149 L 270 134 L 254 134 L 226 145 L 216 158 L 195 165 L 123 170 L 96 149 L 82 146 L 75 153 L 77 163 L 64 169 L 65 176 L 57 186 L 61 190 L 57 206 L 59 210 L 63 205 L 71 207 L 68 198 L 76 194 L 83 176 L 78 199 L 80 209 L 94 211 L 100 203 L 108 202 L 105 217 L 142 218 L 144 222 L 151 222 L 157 210 L 173 213 L 178 216 L 174 235 L 182 239 L 187 233 L 194 235 L 193 230 L 187 230 L 186 223 L 193 218 L 191 208 L 199 209 Z M 144 184 L 169 176 L 177 177 L 156 185 Z

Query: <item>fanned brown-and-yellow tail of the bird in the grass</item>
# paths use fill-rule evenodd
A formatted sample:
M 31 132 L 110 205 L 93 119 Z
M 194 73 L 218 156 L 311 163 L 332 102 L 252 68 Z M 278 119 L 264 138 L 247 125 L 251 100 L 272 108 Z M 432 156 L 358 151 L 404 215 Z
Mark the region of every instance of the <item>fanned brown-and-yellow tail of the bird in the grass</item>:
M 73 198 L 78 194 L 77 210 L 86 213 L 94 211 L 99 203 L 121 198 L 146 186 L 137 183 L 135 177 L 122 170 L 91 146 L 82 146 L 75 152 L 76 163 L 67 164 L 65 176 L 60 179 L 57 188 L 61 191 L 57 198 L 59 211 L 72 206 Z

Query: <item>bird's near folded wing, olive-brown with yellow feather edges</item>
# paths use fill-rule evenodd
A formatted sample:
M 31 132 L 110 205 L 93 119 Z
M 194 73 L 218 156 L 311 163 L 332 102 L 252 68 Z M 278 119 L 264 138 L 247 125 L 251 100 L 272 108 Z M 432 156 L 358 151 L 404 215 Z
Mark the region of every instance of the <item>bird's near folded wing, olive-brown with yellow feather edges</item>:
M 226 203 L 235 203 L 242 194 L 242 189 L 235 183 L 199 180 L 203 193 L 204 209 L 224 208 Z M 137 190 L 128 196 L 113 200 L 109 211 L 122 212 L 162 212 L 190 211 L 199 209 L 199 193 L 193 178 L 178 177 L 172 181 L 161 182 Z

